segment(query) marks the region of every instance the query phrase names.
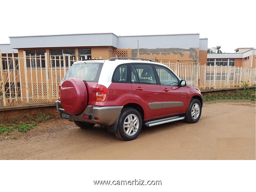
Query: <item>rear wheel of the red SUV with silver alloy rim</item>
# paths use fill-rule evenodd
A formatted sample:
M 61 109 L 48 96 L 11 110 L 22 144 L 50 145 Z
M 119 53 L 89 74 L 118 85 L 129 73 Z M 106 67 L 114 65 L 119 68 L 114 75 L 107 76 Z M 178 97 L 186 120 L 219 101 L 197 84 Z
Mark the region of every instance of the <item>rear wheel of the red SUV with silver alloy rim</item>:
M 118 120 L 115 135 L 120 140 L 134 140 L 140 134 L 142 128 L 142 118 L 140 113 L 134 108 L 124 108 Z

